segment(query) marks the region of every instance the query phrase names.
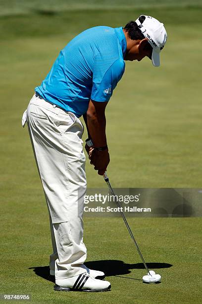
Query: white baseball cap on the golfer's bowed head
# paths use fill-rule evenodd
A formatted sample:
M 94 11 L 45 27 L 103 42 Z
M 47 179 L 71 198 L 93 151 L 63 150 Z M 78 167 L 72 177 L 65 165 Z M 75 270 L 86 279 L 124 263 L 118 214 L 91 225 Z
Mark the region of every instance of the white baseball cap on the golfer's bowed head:
M 145 16 L 145 15 L 141 15 Z M 140 16 L 140 17 L 141 17 Z M 139 18 L 140 18 L 139 17 Z M 140 28 L 141 32 L 148 39 L 151 44 L 152 51 L 152 64 L 154 67 L 160 66 L 160 51 L 163 49 L 166 40 L 167 33 L 163 23 L 151 16 L 145 16 L 143 23 L 140 22 L 139 18 L 135 21 Z

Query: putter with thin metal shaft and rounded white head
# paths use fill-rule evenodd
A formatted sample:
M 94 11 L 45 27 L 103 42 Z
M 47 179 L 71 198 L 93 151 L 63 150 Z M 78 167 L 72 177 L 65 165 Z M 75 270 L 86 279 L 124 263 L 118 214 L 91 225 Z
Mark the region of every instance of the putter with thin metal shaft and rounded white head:
M 109 178 L 108 178 L 106 172 L 103 174 L 103 178 L 104 178 L 105 182 L 106 182 L 107 185 L 108 185 L 109 191 L 111 192 L 111 194 L 112 194 L 112 195 L 114 196 L 114 198 L 115 198 L 116 205 L 117 205 L 118 207 L 121 207 L 120 204 L 119 204 L 119 202 L 118 202 L 118 200 L 116 199 L 116 196 L 115 196 L 114 191 L 113 191 L 113 189 L 112 189 L 112 187 L 111 187 L 111 185 L 110 185 Z M 121 208 L 120 208 L 119 210 L 121 210 Z M 156 283 L 156 282 L 159 282 L 160 279 L 161 279 L 161 276 L 160 276 L 159 274 L 155 274 L 154 271 L 148 269 L 147 264 L 146 264 L 146 262 L 145 262 L 145 260 L 144 260 L 144 258 L 143 258 L 143 256 L 142 256 L 142 253 L 141 253 L 141 251 L 140 251 L 140 248 L 138 247 L 138 244 L 137 244 L 137 242 L 136 242 L 136 240 L 135 240 L 135 237 L 133 236 L 133 233 L 132 233 L 132 231 L 131 231 L 131 228 L 130 228 L 129 225 L 128 225 L 128 222 L 127 222 L 127 220 L 126 220 L 126 217 L 125 217 L 124 213 L 123 213 L 122 211 L 120 211 L 120 214 L 121 214 L 121 216 L 122 216 L 122 218 L 123 218 L 124 223 L 126 224 L 126 227 L 127 227 L 128 231 L 129 231 L 129 233 L 130 233 L 130 236 L 131 236 L 132 240 L 134 241 L 135 246 L 136 246 L 136 248 L 137 248 L 137 250 L 138 250 L 138 253 L 139 253 L 139 255 L 140 255 L 140 257 L 141 257 L 141 259 L 142 259 L 142 261 L 143 261 L 143 264 L 144 264 L 144 266 L 145 266 L 145 268 L 146 268 L 146 270 L 147 270 L 147 272 L 148 272 L 148 274 L 145 275 L 145 276 L 143 277 L 143 282 L 145 282 L 145 283 Z

